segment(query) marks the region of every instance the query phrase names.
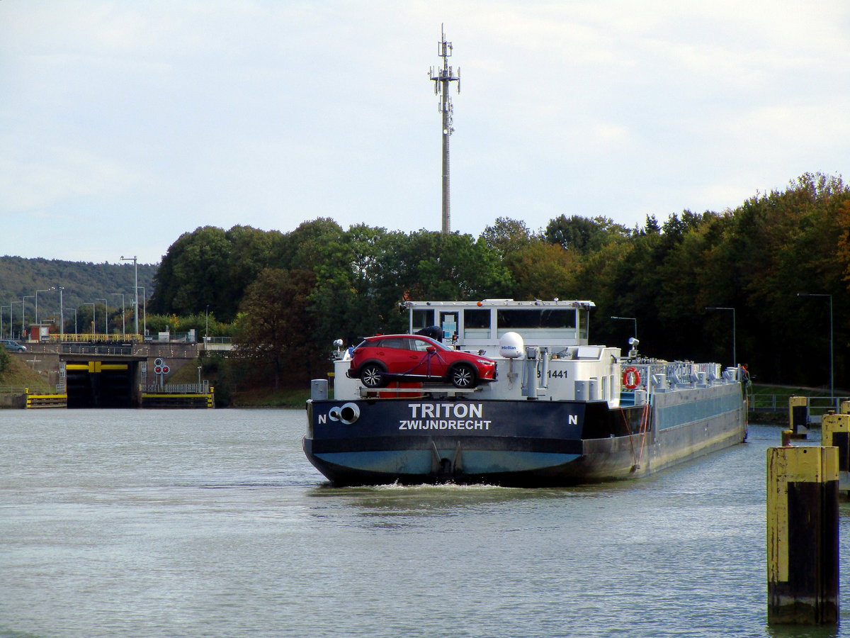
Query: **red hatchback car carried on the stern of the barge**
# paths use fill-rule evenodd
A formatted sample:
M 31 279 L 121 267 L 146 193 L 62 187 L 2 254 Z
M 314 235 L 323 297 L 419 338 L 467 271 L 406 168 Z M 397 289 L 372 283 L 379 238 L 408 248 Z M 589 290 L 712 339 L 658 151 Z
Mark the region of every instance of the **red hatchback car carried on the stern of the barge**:
M 354 348 L 347 374 L 367 388 L 382 388 L 392 379 L 437 380 L 473 388 L 496 379 L 496 362 L 451 350 L 428 337 L 384 334 L 366 337 Z

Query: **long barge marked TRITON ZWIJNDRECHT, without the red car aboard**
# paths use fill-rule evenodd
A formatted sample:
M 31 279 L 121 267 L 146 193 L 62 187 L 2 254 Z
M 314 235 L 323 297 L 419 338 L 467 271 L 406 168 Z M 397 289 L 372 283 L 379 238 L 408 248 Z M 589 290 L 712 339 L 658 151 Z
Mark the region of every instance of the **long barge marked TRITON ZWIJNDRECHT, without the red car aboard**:
M 326 379 L 312 382 L 304 453 L 337 486 L 547 487 L 648 476 L 745 441 L 740 367 L 641 356 L 635 338 L 625 355 L 591 345 L 593 307 L 404 302 L 410 334 L 494 360 L 495 378 L 364 382 L 337 341 L 332 398 Z M 411 351 L 414 365 L 428 350 Z

